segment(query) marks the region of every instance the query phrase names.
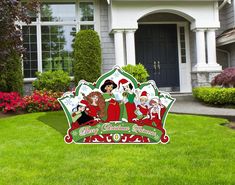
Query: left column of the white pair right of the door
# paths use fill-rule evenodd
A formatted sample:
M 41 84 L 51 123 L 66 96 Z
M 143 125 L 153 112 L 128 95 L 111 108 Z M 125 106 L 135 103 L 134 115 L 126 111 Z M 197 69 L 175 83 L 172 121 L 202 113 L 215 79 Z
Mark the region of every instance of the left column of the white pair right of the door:
M 206 45 L 205 31 L 203 29 L 196 30 L 196 50 L 197 64 L 194 66 L 195 71 L 204 71 L 206 67 Z

